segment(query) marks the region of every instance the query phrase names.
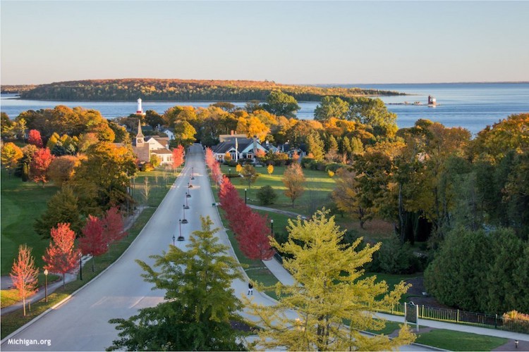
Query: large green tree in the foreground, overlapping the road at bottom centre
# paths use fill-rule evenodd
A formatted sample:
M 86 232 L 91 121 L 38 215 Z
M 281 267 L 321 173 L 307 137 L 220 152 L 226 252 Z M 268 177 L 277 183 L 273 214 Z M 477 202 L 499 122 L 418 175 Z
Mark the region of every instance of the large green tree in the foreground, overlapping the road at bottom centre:
M 119 339 L 110 350 L 129 351 L 240 351 L 240 333 L 230 322 L 240 320 L 241 302 L 231 288 L 233 279 L 242 279 L 238 262 L 225 253 L 212 229 L 213 222 L 202 219 L 202 231 L 189 237 L 188 251 L 169 246 L 169 252 L 152 256 L 154 270 L 137 260 L 145 270 L 145 281 L 153 289 L 166 291 L 165 300 L 154 308 L 143 308 L 128 320 L 116 324 Z

